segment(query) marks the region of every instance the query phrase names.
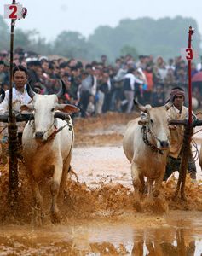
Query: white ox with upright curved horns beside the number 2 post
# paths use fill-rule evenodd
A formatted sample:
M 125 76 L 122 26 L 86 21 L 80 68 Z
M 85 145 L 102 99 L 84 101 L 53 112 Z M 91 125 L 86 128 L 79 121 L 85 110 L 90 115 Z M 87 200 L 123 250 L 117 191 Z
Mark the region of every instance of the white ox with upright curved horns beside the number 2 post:
M 26 174 L 31 183 L 32 194 L 39 209 L 38 221 L 43 219 L 43 198 L 38 184 L 45 177 L 52 177 L 50 192 L 52 195 L 51 217 L 59 221 L 57 198 L 61 199 L 66 184 L 66 175 L 70 167 L 73 130 L 66 120 L 55 118 L 55 111 L 78 112 L 78 108 L 68 104 L 59 104 L 59 97 L 65 92 L 65 84 L 57 95 L 35 94 L 30 86 L 27 92 L 32 103 L 21 106 L 21 111 L 31 112 L 34 120 L 29 121 L 22 135 L 23 156 Z M 69 120 L 72 126 L 72 120 Z M 61 131 L 59 130 L 61 128 Z

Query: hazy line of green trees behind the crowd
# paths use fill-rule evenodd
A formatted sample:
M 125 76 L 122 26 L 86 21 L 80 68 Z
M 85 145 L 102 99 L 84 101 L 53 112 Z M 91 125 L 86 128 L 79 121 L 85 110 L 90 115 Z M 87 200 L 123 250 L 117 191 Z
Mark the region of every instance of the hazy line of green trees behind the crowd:
M 154 20 L 148 17 L 121 20 L 116 27 L 99 26 L 84 38 L 79 32 L 63 31 L 53 42 L 46 42 L 37 31 L 15 29 L 14 47 L 33 50 L 42 55 L 64 55 L 84 60 L 100 59 L 107 55 L 114 61 L 119 55 L 162 55 L 165 59 L 180 55 L 188 45 L 188 26 L 195 28 L 193 48 L 199 54 L 201 36 L 192 18 L 176 16 Z M 9 49 L 9 26 L 0 15 L 0 50 Z

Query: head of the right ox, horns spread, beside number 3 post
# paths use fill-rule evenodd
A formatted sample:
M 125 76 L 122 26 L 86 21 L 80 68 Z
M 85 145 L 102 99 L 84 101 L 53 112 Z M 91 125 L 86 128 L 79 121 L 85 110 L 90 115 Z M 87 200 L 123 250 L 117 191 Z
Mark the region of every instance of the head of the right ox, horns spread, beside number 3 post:
M 158 108 L 152 108 L 148 105 L 142 106 L 136 100 L 134 100 L 134 103 L 141 110 L 141 119 L 138 121 L 138 124 L 147 127 L 150 139 L 157 148 L 161 150 L 168 149 L 170 147 L 170 131 L 166 112 L 172 106 L 173 98 L 164 106 Z

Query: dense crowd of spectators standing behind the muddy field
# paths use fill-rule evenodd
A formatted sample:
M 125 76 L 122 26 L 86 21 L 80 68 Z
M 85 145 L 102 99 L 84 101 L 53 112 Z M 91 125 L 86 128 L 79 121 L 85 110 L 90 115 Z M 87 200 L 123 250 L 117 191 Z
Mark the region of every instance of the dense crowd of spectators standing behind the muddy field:
M 158 107 L 169 98 L 175 86 L 188 88 L 187 61 L 181 57 L 164 61 L 159 56 L 120 56 L 115 63 L 108 63 L 107 55 L 100 61 L 49 59 L 31 51 L 18 48 L 14 51 L 14 65 L 28 69 L 28 80 L 41 94 L 53 94 L 59 90 L 58 79 L 66 84 L 66 94 L 61 99 L 81 109 L 82 117 L 118 111 L 130 113 L 133 98 L 141 104 Z M 201 71 L 201 64 L 192 63 L 192 76 Z M 9 88 L 9 53 L 0 52 L 0 85 Z M 193 83 L 193 97 L 198 108 L 202 107 L 202 81 Z

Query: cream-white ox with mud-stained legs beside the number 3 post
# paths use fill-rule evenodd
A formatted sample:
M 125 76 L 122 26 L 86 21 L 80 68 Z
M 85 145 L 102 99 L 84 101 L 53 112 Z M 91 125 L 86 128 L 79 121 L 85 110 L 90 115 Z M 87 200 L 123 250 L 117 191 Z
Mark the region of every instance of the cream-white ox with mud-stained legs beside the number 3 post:
M 145 190 L 147 177 L 148 193 L 159 195 L 159 188 L 164 178 L 166 158 L 169 153 L 170 131 L 166 110 L 171 106 L 171 100 L 159 108 L 144 107 L 134 100 L 137 108 L 143 114 L 142 118 L 131 120 L 124 134 L 124 154 L 131 163 L 131 176 L 137 201 L 139 193 Z

